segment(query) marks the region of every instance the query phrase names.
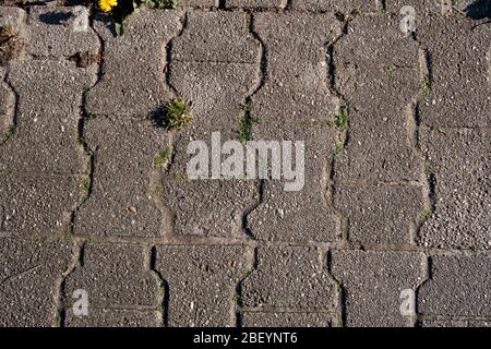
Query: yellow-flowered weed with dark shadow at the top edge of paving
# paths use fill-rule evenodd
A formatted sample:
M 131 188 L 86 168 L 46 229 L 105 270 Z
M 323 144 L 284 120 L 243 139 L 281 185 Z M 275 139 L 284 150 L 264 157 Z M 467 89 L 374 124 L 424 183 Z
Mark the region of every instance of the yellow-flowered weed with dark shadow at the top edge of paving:
M 128 16 L 139 12 L 142 5 L 152 9 L 173 9 L 177 0 L 98 0 L 97 8 L 115 20 L 115 33 L 121 35 L 128 28 Z

